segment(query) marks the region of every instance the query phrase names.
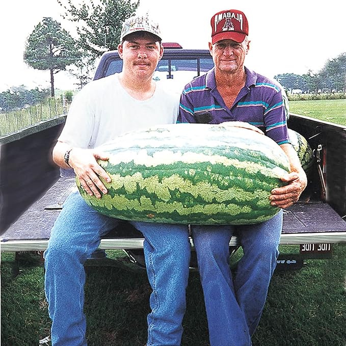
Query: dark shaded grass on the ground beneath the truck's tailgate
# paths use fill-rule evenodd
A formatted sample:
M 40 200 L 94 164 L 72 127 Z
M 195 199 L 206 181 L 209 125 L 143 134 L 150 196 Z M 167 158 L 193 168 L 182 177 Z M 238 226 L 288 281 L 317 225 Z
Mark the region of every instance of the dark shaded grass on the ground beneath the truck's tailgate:
M 287 246 L 281 246 L 285 252 Z M 85 312 L 89 346 L 143 346 L 150 286 L 142 269 L 121 251 L 109 251 L 109 265 L 86 267 Z M 18 275 L 14 275 L 18 273 Z M 39 258 L 2 254 L 2 335 L 4 346 L 38 345 L 49 335 Z M 276 271 L 253 346 L 345 346 L 346 246 L 332 259 L 307 260 L 298 271 Z M 197 271 L 191 271 L 181 346 L 207 346 L 208 331 Z

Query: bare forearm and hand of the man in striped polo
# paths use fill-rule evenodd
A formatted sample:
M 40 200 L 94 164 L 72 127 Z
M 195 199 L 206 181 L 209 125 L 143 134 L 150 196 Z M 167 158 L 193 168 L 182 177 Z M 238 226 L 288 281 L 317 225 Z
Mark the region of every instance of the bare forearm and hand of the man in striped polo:
M 290 173 L 281 178 L 282 181 L 287 182 L 287 185 L 274 189 L 270 200 L 272 205 L 287 208 L 299 200 L 300 195 L 306 188 L 307 178 L 292 145 L 286 143 L 280 145 L 280 147 L 288 157 Z

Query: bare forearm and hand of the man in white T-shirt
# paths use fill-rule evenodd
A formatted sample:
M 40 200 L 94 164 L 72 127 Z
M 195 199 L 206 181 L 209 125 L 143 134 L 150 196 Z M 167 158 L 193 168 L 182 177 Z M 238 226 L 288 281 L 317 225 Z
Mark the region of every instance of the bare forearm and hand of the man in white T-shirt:
M 70 150 L 69 165 L 64 161 L 66 151 Z M 97 159 L 108 160 L 108 156 L 97 149 L 81 149 L 60 142 L 53 149 L 53 160 L 62 168 L 72 168 L 78 177 L 83 189 L 90 195 L 101 198 L 100 191 L 107 194 L 107 189 L 99 176 L 110 182 L 111 178 L 104 169 L 97 163 Z

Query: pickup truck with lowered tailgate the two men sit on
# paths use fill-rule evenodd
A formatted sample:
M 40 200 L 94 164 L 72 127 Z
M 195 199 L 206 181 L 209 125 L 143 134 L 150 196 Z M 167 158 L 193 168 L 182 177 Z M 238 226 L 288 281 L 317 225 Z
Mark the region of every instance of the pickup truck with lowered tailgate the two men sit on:
M 180 93 L 192 78 L 214 66 L 208 50 L 164 46 L 153 78 L 173 92 Z M 94 79 L 121 68 L 117 51 L 105 52 Z M 60 170 L 50 158 L 65 119 L 61 115 L 0 138 L 1 251 L 47 248 L 50 229 L 75 188 L 73 172 Z M 288 127 L 303 135 L 314 153 L 307 189 L 298 203 L 284 210 L 280 244 L 299 244 L 300 255 L 279 258 L 278 263 L 299 268 L 304 258 L 330 256 L 333 243 L 346 242 L 346 127 L 296 114 L 289 115 Z M 99 251 L 123 249 L 132 261 L 143 265 L 143 240 L 124 221 L 101 240 Z M 236 236 L 230 248 L 233 252 L 238 248 Z

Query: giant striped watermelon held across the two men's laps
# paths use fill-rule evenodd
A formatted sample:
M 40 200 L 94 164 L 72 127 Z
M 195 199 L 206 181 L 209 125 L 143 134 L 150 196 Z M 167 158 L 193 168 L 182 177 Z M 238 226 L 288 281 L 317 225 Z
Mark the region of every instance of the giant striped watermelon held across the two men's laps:
M 253 224 L 272 218 L 271 190 L 288 159 L 269 137 L 227 124 L 170 124 L 128 132 L 100 148 L 109 193 L 86 202 L 124 220 Z

